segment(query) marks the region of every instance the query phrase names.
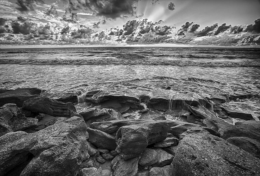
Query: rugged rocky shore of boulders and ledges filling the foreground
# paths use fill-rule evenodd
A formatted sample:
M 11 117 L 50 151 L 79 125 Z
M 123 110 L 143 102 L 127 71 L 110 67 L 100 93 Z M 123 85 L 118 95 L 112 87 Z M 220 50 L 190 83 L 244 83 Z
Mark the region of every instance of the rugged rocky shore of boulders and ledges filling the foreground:
M 0 175 L 257 176 L 260 121 L 223 106 L 252 96 L 91 90 L 77 110 L 76 94 L 1 89 Z

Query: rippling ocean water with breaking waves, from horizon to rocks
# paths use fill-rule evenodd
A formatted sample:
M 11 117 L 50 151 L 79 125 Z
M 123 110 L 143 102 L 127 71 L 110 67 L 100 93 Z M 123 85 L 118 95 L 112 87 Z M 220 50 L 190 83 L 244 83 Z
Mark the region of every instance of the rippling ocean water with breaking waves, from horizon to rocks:
M 78 47 L 0 50 L 0 89 L 39 87 L 49 93 L 91 89 L 153 90 L 253 98 L 226 106 L 260 115 L 260 49 L 185 47 Z

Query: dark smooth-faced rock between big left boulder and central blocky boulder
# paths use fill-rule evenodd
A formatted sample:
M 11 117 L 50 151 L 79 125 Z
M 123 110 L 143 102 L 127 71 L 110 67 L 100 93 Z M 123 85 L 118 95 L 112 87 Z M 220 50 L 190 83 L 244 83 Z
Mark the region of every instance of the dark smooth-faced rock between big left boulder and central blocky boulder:
M 89 134 L 89 141 L 96 147 L 109 150 L 116 149 L 116 141 L 114 136 L 91 128 L 88 128 L 87 131 Z

